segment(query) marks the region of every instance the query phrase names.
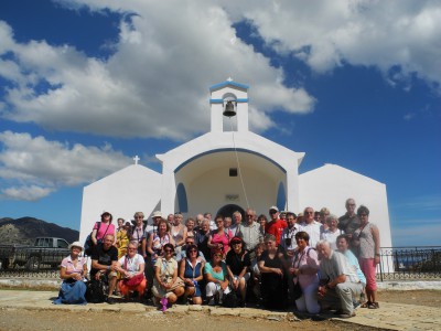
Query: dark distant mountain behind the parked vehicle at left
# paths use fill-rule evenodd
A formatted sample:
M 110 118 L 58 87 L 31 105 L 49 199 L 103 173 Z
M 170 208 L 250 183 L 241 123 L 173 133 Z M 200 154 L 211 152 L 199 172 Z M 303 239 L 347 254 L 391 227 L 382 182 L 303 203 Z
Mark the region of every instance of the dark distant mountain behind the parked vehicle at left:
M 0 218 L 0 244 L 33 244 L 36 237 L 78 241 L 79 232 L 33 217 Z

